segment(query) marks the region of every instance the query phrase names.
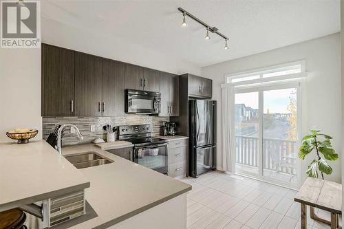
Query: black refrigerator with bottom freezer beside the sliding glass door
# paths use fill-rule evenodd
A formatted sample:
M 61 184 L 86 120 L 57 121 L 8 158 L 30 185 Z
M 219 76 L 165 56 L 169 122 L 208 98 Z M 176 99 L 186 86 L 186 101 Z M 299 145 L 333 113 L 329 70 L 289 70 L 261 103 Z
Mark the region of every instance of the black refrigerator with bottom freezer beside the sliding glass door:
M 189 100 L 188 176 L 216 168 L 216 101 Z

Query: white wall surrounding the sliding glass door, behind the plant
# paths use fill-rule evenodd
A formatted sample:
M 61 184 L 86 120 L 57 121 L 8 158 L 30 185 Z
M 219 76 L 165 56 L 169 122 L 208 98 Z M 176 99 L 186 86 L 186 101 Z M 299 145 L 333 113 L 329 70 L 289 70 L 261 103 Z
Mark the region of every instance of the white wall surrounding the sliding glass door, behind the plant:
M 339 33 L 203 67 L 202 76 L 213 79 L 213 98 L 218 101 L 217 135 L 222 136 L 220 85 L 224 83 L 225 74 L 300 60 L 306 61 L 306 70 L 310 73 L 305 83 L 306 90 L 302 93 L 303 135 L 312 126 L 322 129 L 324 133 L 332 135 L 334 149 L 341 157 L 341 39 Z M 221 152 L 222 139 L 217 138 L 219 169 L 222 169 Z M 310 158 L 302 162 L 303 179 L 305 179 L 305 167 L 309 162 Z M 325 179 L 341 182 L 341 160 L 330 162 L 330 165 L 333 173 Z

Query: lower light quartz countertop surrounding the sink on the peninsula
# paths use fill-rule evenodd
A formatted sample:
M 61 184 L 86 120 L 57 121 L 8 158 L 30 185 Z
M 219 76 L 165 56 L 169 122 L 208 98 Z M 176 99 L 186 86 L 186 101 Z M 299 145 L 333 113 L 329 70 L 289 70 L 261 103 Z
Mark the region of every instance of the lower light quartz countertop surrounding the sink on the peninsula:
M 94 144 L 62 149 L 65 155 L 85 151 L 96 151 L 114 162 L 79 170 L 91 182 L 85 197 L 98 217 L 72 228 L 107 228 L 191 190 L 189 184 L 103 151 Z

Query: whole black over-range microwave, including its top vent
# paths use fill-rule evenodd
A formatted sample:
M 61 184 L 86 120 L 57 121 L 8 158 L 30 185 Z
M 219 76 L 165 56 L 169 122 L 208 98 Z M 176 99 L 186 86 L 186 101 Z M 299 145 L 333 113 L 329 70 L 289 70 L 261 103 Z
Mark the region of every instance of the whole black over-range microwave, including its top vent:
M 161 110 L 161 94 L 154 91 L 125 90 L 126 113 L 158 114 Z

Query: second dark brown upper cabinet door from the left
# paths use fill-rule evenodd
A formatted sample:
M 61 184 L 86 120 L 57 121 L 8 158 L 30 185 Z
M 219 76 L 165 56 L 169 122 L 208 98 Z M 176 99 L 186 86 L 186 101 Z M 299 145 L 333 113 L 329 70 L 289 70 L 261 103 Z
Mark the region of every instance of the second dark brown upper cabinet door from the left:
M 102 116 L 102 58 L 75 52 L 75 116 Z

